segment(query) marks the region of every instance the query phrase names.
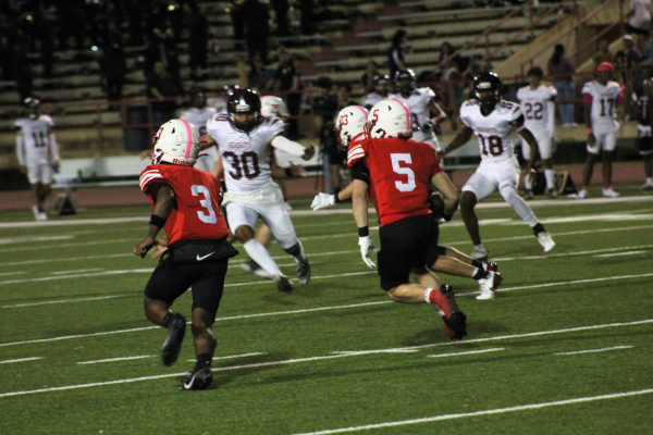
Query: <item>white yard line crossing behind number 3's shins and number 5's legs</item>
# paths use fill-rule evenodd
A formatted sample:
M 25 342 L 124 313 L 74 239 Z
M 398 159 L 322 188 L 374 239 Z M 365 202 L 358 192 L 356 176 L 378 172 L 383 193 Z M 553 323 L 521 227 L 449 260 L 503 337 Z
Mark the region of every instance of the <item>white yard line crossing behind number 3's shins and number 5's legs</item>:
M 361 272 L 361 273 L 373 273 L 373 272 Z M 341 276 L 341 275 L 336 275 L 336 276 Z M 532 285 L 532 286 L 521 286 L 521 287 L 508 287 L 508 288 L 500 289 L 497 291 L 510 291 L 510 290 L 518 290 L 518 289 L 526 289 L 526 288 L 550 287 L 550 286 L 555 286 L 555 285 L 566 285 L 566 284 L 572 284 L 572 283 L 589 283 L 589 282 L 596 282 L 596 281 L 621 279 L 621 278 L 628 279 L 631 277 L 643 277 L 643 276 L 653 276 L 653 273 L 645 273 L 642 275 L 606 276 L 606 277 L 602 277 L 602 278 L 537 284 L 537 285 Z M 263 283 L 269 283 L 269 282 L 263 282 Z M 463 294 L 459 294 L 458 296 L 460 296 L 460 297 L 473 296 L 473 295 L 477 295 L 479 291 L 463 293 Z M 364 303 L 354 303 L 354 304 L 348 304 L 348 306 L 318 307 L 318 308 L 307 308 L 307 309 L 303 309 L 303 310 L 293 310 L 293 311 L 275 311 L 275 312 L 267 312 L 267 313 L 243 314 L 243 315 L 233 315 L 233 316 L 229 316 L 229 318 L 215 319 L 215 322 L 226 321 L 226 320 L 236 320 L 236 319 L 261 318 L 261 316 L 268 316 L 268 315 L 295 314 L 295 313 L 309 312 L 309 311 L 335 310 L 335 309 L 340 309 L 340 308 L 367 307 L 367 306 L 374 306 L 374 304 L 382 304 L 382 303 L 394 303 L 394 302 L 392 300 L 383 300 L 383 301 L 378 301 L 378 302 L 364 302 Z M 649 323 L 649 321 L 646 321 L 644 323 Z M 67 335 L 67 336 L 62 336 L 62 337 L 39 338 L 39 339 L 34 339 L 34 340 L 0 343 L 0 347 L 24 345 L 24 344 L 30 344 L 30 343 L 56 341 L 56 340 L 70 339 L 70 338 L 94 337 L 94 336 L 98 336 L 98 335 L 121 334 L 121 333 L 128 333 L 128 332 L 136 332 L 136 331 L 153 330 L 157 327 L 160 327 L 160 326 L 144 326 L 144 327 L 136 327 L 136 328 L 131 328 L 131 330 L 107 331 L 107 332 L 101 332 L 101 333 Z M 484 338 L 479 338 L 479 339 L 484 339 Z M 472 341 L 475 341 L 475 340 L 466 340 L 465 343 L 472 343 Z

